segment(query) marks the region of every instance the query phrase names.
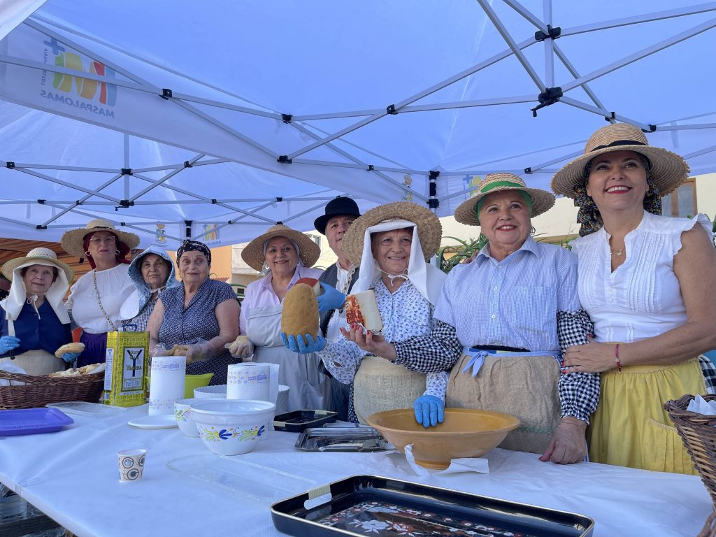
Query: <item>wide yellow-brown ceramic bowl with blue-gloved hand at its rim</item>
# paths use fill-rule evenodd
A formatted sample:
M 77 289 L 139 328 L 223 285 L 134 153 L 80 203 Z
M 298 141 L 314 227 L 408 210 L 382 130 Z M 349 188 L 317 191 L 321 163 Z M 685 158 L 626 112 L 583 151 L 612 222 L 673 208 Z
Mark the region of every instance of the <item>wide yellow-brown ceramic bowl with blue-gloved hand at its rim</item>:
M 446 408 L 445 421 L 437 427 L 416 422 L 412 409 L 376 412 L 367 421 L 402 453 L 412 444 L 415 462 L 425 468 L 448 468 L 453 459 L 482 457 L 520 425 L 514 416 L 470 408 Z

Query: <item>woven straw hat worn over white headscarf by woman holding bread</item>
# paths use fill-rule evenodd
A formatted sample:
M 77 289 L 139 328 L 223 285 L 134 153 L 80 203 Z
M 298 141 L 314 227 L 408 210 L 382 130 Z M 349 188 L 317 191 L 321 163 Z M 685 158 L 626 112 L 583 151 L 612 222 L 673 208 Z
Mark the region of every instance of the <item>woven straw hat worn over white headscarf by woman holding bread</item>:
M 356 218 L 343 237 L 343 252 L 354 265 L 360 265 L 363 257 L 363 238 L 365 231 L 377 223 L 390 220 L 407 220 L 417 226 L 422 255 L 428 261 L 437 253 L 442 238 L 442 224 L 430 209 L 411 203 L 396 201 L 372 208 L 360 218 Z

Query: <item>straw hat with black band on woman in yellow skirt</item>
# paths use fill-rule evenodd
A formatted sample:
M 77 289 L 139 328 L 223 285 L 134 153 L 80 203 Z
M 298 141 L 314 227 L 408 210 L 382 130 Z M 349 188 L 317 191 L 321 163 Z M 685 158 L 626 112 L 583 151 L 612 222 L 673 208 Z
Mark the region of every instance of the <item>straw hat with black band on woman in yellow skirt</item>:
M 574 198 L 574 188 L 586 183 L 585 166 L 593 158 L 611 151 L 634 151 L 648 158 L 652 163 L 649 175 L 662 196 L 677 188 L 689 175 L 689 165 L 681 156 L 662 147 L 649 145 L 647 135 L 639 127 L 614 123 L 594 132 L 584 145 L 584 155 L 554 174 L 552 190 Z

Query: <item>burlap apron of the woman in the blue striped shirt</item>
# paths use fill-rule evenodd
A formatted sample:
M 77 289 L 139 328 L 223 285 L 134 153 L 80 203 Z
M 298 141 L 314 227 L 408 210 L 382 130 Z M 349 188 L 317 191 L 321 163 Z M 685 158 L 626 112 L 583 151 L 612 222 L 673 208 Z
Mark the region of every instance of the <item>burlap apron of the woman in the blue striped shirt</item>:
M 472 358 L 463 353 L 450 372 L 445 406 L 516 416 L 520 427 L 498 447 L 544 453 L 561 419 L 559 364 L 548 353 L 520 354 L 536 353 L 490 354 L 473 377 L 470 370 L 463 372 Z

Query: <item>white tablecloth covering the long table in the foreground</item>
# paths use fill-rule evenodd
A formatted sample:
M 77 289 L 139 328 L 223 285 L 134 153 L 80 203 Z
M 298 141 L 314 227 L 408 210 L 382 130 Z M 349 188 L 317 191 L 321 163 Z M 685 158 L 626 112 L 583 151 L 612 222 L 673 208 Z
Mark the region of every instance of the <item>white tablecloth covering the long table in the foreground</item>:
M 72 415 L 74 425 L 60 432 L 0 437 L 0 481 L 80 537 L 280 535 L 269 509 L 276 500 L 266 491 L 241 492 L 236 483 L 227 488 L 168 468 L 173 460 L 211 454 L 178 429 L 127 425 L 146 412 L 143 406 L 110 418 Z M 712 509 L 695 476 L 595 463 L 562 466 L 496 449 L 488 454 L 488 475 L 417 477 L 402 455 L 306 453 L 293 447 L 296 437 L 270 431 L 252 453 L 221 463 L 252 475 L 267 468 L 267 490 L 290 491 L 279 498 L 349 475 L 385 475 L 580 513 L 594 518 L 598 537 L 693 537 Z M 130 448 L 148 450 L 144 478 L 120 483 L 117 451 Z

